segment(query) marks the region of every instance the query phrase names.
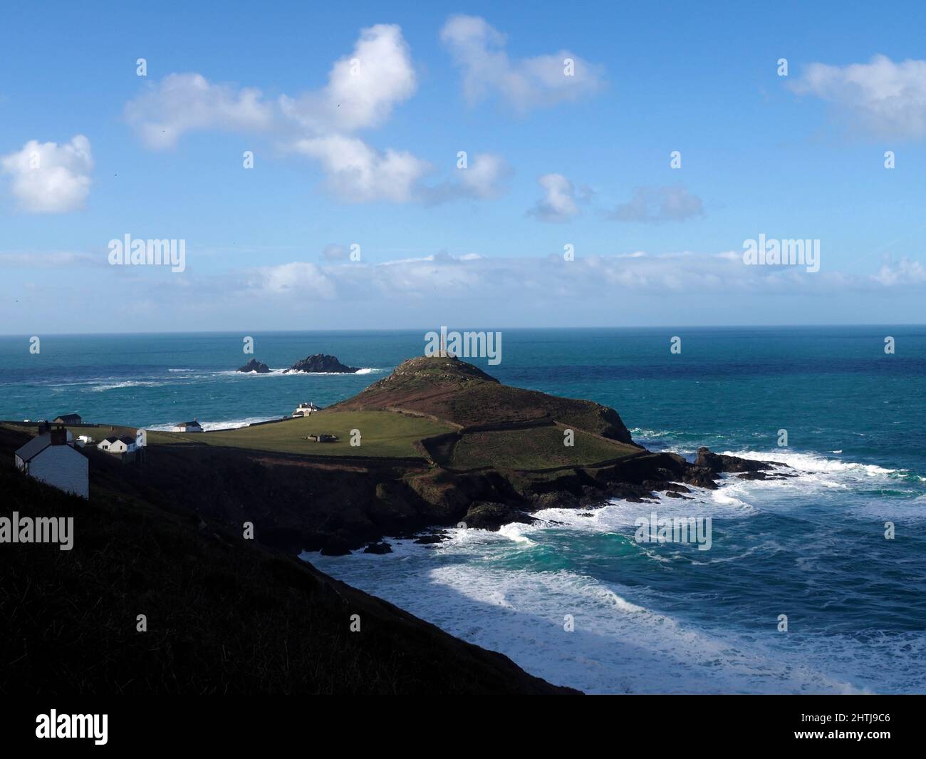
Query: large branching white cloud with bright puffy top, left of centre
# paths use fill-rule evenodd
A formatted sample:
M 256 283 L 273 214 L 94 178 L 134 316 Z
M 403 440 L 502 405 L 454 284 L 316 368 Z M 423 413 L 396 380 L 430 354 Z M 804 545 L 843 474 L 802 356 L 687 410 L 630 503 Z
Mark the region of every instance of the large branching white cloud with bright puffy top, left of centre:
M 377 149 L 357 136 L 382 126 L 417 86 L 402 30 L 377 24 L 361 30 L 353 51 L 335 61 L 319 90 L 270 102 L 256 89 L 170 74 L 131 100 L 125 112 L 151 148 L 176 145 L 194 130 L 272 133 L 283 153 L 317 161 L 327 189 L 348 203 L 500 194 L 510 174 L 502 158 L 477 157 L 457 182 L 429 188 L 422 180 L 432 171 L 430 163 L 407 150 Z

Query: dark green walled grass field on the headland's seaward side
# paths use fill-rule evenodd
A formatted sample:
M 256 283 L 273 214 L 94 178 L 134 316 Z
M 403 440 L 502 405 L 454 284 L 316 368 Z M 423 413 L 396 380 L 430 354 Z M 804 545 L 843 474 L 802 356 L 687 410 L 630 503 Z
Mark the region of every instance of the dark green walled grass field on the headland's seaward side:
M 574 445 L 565 446 L 565 426 L 531 427 L 464 435 L 454 446 L 450 466 L 474 469 L 548 469 L 555 466 L 588 465 L 618 459 L 640 449 L 574 430 Z

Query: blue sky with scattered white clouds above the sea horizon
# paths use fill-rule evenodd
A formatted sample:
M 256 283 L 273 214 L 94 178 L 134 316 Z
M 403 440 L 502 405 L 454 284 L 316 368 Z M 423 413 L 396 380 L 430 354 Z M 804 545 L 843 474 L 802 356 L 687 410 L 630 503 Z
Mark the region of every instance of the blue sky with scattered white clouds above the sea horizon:
M 8 3 L 0 333 L 926 323 L 924 17 Z

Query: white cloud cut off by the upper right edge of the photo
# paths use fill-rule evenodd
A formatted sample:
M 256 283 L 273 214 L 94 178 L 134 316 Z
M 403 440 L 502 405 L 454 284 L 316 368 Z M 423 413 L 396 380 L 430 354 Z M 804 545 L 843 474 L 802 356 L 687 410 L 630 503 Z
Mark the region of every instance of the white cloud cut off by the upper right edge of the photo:
M 792 84 L 845 111 L 858 126 L 886 137 L 926 135 L 926 60 L 895 63 L 874 56 L 869 63 L 812 63 Z

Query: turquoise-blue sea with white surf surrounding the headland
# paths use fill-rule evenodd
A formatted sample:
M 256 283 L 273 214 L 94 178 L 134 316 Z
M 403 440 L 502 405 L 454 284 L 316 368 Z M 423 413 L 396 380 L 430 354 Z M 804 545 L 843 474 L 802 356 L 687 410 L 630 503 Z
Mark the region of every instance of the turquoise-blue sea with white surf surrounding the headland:
M 44 335 L 39 352 L 4 336 L 0 418 L 241 426 L 354 395 L 421 354 L 427 331 Z M 473 362 L 504 383 L 607 404 L 649 449 L 708 446 L 794 476 L 304 559 L 586 692 L 926 692 L 926 327 L 502 337 L 499 364 Z M 362 371 L 282 373 L 312 353 Z M 273 371 L 235 373 L 251 358 Z M 638 542 L 654 513 L 710 517 L 710 549 Z

